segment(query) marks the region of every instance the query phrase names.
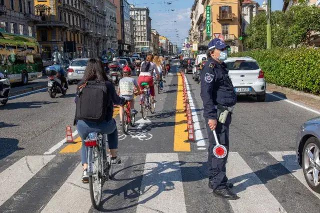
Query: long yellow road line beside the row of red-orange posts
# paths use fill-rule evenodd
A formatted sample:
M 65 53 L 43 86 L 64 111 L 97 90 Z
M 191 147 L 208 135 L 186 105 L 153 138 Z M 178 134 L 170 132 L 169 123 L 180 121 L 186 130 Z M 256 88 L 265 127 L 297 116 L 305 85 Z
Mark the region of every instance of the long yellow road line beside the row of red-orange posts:
M 184 132 L 187 125 L 185 121 L 185 112 L 183 107 L 183 85 L 181 74 L 178 75 L 178 88 L 176 94 L 176 112 L 175 112 L 175 125 L 174 125 L 174 141 L 173 151 L 174 152 L 190 152 L 190 144 L 184 142 L 188 139 L 188 133 Z

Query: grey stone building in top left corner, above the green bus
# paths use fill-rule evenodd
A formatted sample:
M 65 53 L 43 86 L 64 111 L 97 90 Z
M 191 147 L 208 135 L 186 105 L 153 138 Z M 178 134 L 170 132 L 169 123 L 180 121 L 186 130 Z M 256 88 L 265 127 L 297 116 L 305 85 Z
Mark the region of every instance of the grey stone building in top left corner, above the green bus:
M 0 0 L 0 28 L 6 32 L 36 37 L 33 0 Z

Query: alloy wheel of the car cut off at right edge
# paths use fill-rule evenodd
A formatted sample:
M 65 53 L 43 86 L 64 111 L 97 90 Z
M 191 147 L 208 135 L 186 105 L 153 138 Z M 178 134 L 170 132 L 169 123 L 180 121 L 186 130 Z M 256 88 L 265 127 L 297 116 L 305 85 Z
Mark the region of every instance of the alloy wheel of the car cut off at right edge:
M 308 186 L 320 193 L 320 142 L 315 137 L 306 140 L 302 152 L 303 175 Z

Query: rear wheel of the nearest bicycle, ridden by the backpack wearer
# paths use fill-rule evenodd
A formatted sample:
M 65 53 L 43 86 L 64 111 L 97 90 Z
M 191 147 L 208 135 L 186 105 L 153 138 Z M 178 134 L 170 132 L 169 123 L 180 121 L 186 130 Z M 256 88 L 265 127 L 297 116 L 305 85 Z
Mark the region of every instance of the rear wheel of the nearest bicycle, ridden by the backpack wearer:
M 101 159 L 97 147 L 92 150 L 93 165 L 92 175 L 89 176 L 90 199 L 94 209 L 98 209 L 102 196 Z

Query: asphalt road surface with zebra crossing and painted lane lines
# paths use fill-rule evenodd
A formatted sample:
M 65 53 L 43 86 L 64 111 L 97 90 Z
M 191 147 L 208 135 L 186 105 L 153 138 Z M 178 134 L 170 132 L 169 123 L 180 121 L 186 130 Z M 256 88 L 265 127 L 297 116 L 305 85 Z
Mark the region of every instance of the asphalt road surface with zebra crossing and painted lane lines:
M 185 143 L 177 110 L 181 76 L 174 64 L 172 70 L 156 97 L 155 114 L 147 121 L 138 114 L 126 136 L 118 126 L 122 163 L 103 187 L 100 212 L 318 212 L 320 196 L 305 186 L 294 156 L 296 133 L 315 113 L 269 94 L 263 103 L 239 97 L 227 175 L 240 199 L 221 200 L 207 188 L 200 87 L 186 75 L 201 138 Z M 73 123 L 74 91 L 71 85 L 55 99 L 37 91 L 0 106 L 0 212 L 97 212 L 88 185 L 80 182 L 80 143 L 63 143 L 65 127 Z

